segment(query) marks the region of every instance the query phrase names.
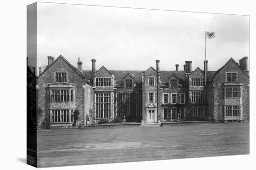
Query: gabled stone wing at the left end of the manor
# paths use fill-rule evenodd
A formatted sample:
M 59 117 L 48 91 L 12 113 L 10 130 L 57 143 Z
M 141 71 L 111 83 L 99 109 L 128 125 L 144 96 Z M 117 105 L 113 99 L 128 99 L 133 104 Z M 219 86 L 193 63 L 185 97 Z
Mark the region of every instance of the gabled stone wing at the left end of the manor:
M 57 81 L 56 73 L 66 73 L 66 80 Z M 48 67 L 38 76 L 37 79 L 38 90 L 38 112 L 40 116 L 38 116 L 38 127 L 41 126 L 72 126 L 73 121 L 71 117 L 71 112 L 74 113 L 74 110 L 79 111 L 79 118 L 77 123 L 84 124 L 85 115 L 88 113 L 88 107 L 85 106 L 85 99 L 92 100 L 92 97 L 88 98 L 87 96 L 91 96 L 92 88 L 89 88 L 86 76 L 83 75 L 78 69 L 74 68 L 67 60 L 60 56 L 54 62 L 50 63 Z M 53 91 L 57 91 L 56 98 L 54 101 Z M 62 91 L 61 91 L 62 90 Z M 68 95 L 65 95 L 66 100 L 61 101 L 61 92 L 68 91 Z M 73 91 L 71 94 L 71 90 Z M 59 93 L 59 95 L 58 95 Z M 89 95 L 88 95 L 89 93 Z M 54 96 L 54 97 L 55 97 Z M 71 100 L 71 97 L 73 98 Z M 86 101 L 86 103 L 92 103 Z M 87 108 L 87 110 L 85 110 Z M 57 114 L 57 121 L 53 122 L 53 111 L 60 110 L 60 113 Z M 62 110 L 67 110 L 65 114 L 66 116 L 65 122 L 61 121 Z M 64 113 L 63 113 L 64 114 Z M 60 119 L 60 120 L 58 120 Z

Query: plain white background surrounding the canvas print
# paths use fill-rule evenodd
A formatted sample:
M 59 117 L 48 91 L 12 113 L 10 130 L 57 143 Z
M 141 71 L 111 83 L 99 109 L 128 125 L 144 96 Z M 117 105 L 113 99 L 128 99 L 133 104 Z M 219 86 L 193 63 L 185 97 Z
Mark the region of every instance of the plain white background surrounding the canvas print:
M 26 164 L 26 19 L 27 5 L 34 0 L 2 1 L 0 4 L 0 167 L 34 169 Z M 256 17 L 252 0 L 45 0 L 45 2 L 76 3 L 103 6 L 167 9 L 192 12 L 250 15 L 250 155 L 206 157 L 165 161 L 101 164 L 46 168 L 71 169 L 253 169 L 255 168 L 255 121 L 252 109 L 255 94 L 252 50 Z M 254 160 L 255 159 L 255 160 Z

